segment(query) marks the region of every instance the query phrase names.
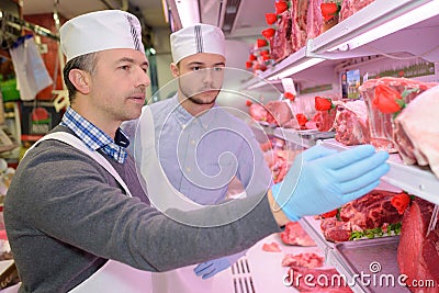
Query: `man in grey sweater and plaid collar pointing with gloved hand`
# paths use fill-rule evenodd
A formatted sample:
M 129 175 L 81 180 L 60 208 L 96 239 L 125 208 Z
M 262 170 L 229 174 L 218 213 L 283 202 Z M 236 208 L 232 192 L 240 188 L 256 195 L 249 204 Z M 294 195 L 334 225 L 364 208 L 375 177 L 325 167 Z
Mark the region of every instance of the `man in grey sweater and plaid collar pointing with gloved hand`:
M 370 146 L 336 155 L 315 148 L 304 153 L 303 172 L 309 180 L 314 171 L 329 172 L 331 180 L 305 187 L 308 179 L 300 177 L 294 191 L 278 185 L 273 196 L 282 211 L 270 209 L 269 191 L 227 205 L 172 211 L 206 222 L 247 211 L 227 225 L 205 228 L 169 218 L 149 205 L 120 129 L 140 114 L 149 84 L 140 35 L 134 15 L 113 10 L 80 15 L 60 30 L 71 106 L 27 151 L 4 202 L 20 292 L 150 292 L 145 271 L 241 251 L 279 232 L 284 214 L 297 219 L 333 210 L 375 187 L 389 169 L 385 154 Z M 347 177 L 350 168 L 353 179 Z M 305 199 L 318 202 L 311 206 Z

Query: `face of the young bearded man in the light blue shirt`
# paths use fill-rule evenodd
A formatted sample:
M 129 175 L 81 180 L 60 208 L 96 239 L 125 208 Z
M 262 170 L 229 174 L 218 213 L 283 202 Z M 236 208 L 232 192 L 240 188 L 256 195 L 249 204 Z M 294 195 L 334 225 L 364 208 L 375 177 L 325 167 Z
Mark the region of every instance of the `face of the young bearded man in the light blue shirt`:
M 224 79 L 225 58 L 217 54 L 200 53 L 180 60 L 175 75 L 179 77 L 182 99 L 195 104 L 213 104 Z

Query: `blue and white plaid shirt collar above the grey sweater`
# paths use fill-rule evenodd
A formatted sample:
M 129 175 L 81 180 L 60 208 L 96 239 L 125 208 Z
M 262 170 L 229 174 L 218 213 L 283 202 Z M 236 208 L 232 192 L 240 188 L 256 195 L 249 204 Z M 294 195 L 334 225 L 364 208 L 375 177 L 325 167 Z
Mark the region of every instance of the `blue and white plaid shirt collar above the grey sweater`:
M 115 140 L 113 140 L 113 138 L 87 121 L 70 106 L 67 108 L 60 124 L 69 127 L 90 149 L 102 149 L 103 153 L 119 164 L 125 162 L 127 155 L 125 148 L 130 145 L 130 140 L 121 128 L 117 128 Z

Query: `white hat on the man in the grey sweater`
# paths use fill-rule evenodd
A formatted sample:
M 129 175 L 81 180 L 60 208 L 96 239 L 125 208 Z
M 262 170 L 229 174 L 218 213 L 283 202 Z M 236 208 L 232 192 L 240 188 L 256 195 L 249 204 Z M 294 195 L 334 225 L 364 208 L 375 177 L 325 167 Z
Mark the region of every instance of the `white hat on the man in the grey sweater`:
M 67 61 L 75 57 L 114 48 L 133 48 L 145 53 L 138 19 L 121 10 L 102 10 L 79 15 L 59 30 Z

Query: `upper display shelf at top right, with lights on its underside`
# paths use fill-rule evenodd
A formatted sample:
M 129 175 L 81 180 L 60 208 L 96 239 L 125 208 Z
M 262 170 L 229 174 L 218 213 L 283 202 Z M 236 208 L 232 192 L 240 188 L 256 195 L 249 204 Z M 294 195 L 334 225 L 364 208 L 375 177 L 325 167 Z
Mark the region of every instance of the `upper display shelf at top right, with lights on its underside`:
M 243 87 L 262 87 L 261 79 L 315 78 L 327 65 L 335 66 L 352 57 L 407 52 L 430 60 L 437 56 L 437 38 L 434 36 L 439 31 L 438 15 L 437 0 L 375 0 L 314 40 L 308 40 L 303 48 Z

